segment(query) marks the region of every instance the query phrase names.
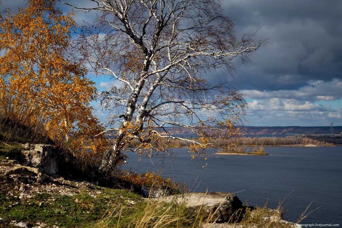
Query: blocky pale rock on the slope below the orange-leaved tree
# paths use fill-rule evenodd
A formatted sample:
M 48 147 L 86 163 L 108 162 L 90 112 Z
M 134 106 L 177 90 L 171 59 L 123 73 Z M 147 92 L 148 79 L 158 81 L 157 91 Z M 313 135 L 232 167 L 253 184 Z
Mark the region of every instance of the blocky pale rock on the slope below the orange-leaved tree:
M 56 155 L 52 145 L 44 144 L 24 144 L 25 149 L 21 151 L 29 166 L 37 167 L 41 172 L 56 174 L 58 172 Z

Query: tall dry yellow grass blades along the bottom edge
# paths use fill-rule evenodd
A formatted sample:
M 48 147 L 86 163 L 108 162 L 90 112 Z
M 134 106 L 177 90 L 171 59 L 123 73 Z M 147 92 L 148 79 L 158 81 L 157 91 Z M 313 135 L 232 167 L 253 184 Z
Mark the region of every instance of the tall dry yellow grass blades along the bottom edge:
M 275 210 L 267 209 L 267 203 L 264 207 L 249 207 L 244 210 L 236 211 L 227 223 L 216 224 L 219 217 L 219 208 L 224 203 L 217 207 L 215 211 L 208 212 L 209 214 L 203 217 L 203 202 L 201 206 L 196 208 L 186 207 L 186 201 L 179 202 L 176 199 L 171 202 L 163 202 L 161 200 L 153 200 L 148 198 L 146 204 L 140 211 L 132 214 L 128 225 L 123 222 L 124 207 L 114 208 L 113 211 L 106 213 L 94 228 L 290 228 L 292 223 L 281 221 L 282 208 L 281 203 Z M 186 198 L 186 197 L 185 197 Z M 303 215 L 305 212 L 303 213 Z M 302 217 L 303 217 L 302 215 Z M 305 217 L 305 216 L 304 216 Z M 123 224 L 120 223 L 120 220 Z

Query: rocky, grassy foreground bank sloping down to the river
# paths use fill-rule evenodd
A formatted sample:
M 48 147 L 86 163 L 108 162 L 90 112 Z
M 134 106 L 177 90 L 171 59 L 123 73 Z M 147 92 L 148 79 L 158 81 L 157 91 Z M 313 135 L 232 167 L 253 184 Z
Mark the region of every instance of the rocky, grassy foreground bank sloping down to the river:
M 141 192 L 150 189 L 144 197 L 136 187 L 98 185 L 63 176 L 58 166 L 49 169 L 57 164 L 49 145 L 29 148 L 33 149 L 21 151 L 22 155 L 29 154 L 38 163 L 0 157 L 0 227 L 202 228 L 216 227 L 216 222 L 225 227 L 298 227 L 282 220 L 280 208 L 242 205 L 233 193 L 170 196 L 165 187 L 140 186 Z

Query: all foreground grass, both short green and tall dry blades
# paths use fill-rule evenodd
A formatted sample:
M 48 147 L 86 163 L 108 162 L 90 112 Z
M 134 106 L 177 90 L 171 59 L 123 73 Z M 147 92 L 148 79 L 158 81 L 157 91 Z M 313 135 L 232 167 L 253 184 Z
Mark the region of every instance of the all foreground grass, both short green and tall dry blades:
M 50 226 L 65 228 L 200 228 L 210 227 L 208 222 L 215 221 L 218 210 L 206 212 L 202 207 L 190 208 L 185 203 L 163 202 L 144 199 L 128 190 L 101 188 L 97 197 L 81 192 L 76 196 L 36 194 L 27 202 L 19 202 L 16 198 L 0 191 L 0 217 L 6 222 L 16 220 L 45 223 Z M 133 203 L 132 203 L 133 202 Z M 42 203 L 42 204 L 41 204 Z M 218 207 L 219 208 L 219 207 Z M 246 207 L 243 215 L 238 210 L 233 217 L 240 217 L 239 227 L 284 228 L 273 219 L 281 213 L 280 206 L 274 212 L 262 208 Z M 234 222 L 231 219 L 230 222 Z

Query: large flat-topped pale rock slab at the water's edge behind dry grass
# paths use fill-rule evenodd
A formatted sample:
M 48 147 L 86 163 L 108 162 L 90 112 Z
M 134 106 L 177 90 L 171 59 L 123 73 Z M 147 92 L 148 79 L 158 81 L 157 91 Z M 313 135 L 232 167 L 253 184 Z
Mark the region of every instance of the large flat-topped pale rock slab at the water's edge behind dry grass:
M 172 201 L 174 197 L 164 199 Z M 239 198 L 228 192 L 189 193 L 184 197 L 178 197 L 176 200 L 179 203 L 185 202 L 189 207 L 200 208 L 202 206 L 201 214 L 204 221 L 217 210 L 215 216 L 212 216 L 209 220 L 220 223 L 228 222 L 235 211 L 242 209 L 242 202 Z

